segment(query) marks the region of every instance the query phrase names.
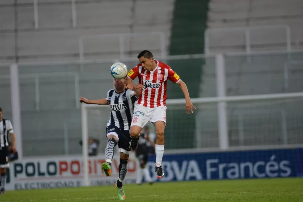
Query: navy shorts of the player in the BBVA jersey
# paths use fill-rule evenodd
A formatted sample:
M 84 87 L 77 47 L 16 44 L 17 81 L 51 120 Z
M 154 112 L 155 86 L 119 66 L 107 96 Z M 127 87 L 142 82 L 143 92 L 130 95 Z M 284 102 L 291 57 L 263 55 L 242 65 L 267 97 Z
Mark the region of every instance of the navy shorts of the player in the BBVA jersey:
M 106 137 L 109 135 L 114 135 L 117 137 L 119 152 L 128 155 L 131 153 L 132 138 L 129 134 L 129 130 L 122 130 L 115 125 L 109 125 L 106 127 L 106 134 Z

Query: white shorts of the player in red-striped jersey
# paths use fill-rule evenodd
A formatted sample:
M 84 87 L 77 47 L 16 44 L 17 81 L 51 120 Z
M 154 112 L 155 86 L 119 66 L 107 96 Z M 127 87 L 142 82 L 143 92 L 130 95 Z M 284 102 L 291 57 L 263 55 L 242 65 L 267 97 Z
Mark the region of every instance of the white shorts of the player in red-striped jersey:
M 137 125 L 143 128 L 148 121 L 151 123 L 163 121 L 166 125 L 166 109 L 166 106 L 147 108 L 136 104 L 131 126 Z

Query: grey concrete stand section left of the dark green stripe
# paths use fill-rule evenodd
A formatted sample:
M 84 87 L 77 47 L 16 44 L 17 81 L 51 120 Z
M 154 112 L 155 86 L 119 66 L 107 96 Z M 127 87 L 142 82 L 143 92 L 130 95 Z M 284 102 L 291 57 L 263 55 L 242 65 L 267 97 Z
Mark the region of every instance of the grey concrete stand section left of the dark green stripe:
M 73 27 L 71 1 L 42 0 L 37 4 L 38 27 L 35 28 L 33 1 L 0 4 L 0 62 L 71 61 L 79 59 L 79 38 L 95 34 L 163 32 L 169 45 L 173 0 L 168 1 L 76 1 L 77 26 Z M 110 9 L 109 9 L 110 8 Z M 151 13 L 150 15 L 145 15 Z M 162 13 L 165 13 L 164 15 Z M 127 56 L 135 56 L 142 41 L 125 39 Z M 86 59 L 120 58 L 119 38 L 87 41 Z M 141 40 L 140 40 L 141 39 Z M 147 40 L 144 46 L 160 53 L 158 43 Z M 98 43 L 97 43 L 98 42 Z M 108 43 L 110 43 L 110 46 Z M 140 44 L 141 43 L 141 44 Z

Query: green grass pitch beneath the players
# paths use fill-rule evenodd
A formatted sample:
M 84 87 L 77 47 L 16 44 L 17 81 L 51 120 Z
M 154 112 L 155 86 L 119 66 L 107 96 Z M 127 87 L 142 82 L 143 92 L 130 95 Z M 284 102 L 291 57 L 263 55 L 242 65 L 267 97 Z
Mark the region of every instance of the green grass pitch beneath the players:
M 303 201 L 303 178 L 126 184 L 126 201 Z M 0 201 L 118 201 L 115 186 L 7 191 Z

